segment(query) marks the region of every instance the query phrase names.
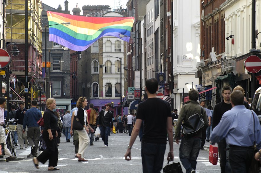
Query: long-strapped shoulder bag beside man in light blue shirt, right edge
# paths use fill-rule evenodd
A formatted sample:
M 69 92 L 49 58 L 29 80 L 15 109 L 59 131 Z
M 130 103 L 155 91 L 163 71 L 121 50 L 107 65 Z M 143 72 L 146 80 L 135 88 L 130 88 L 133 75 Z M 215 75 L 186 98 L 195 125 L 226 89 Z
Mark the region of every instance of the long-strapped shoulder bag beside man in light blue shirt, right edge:
M 252 112 L 252 110 L 251 110 Z M 249 173 L 261 173 L 261 164 L 260 161 L 257 161 L 255 159 L 255 154 L 258 152 L 257 148 L 256 148 L 256 136 L 255 136 L 255 118 L 254 118 L 254 114 L 252 112 L 253 115 L 253 119 L 254 119 L 254 151 L 253 151 L 253 155 L 252 155 L 252 159 L 251 159 L 251 165 L 249 166 Z

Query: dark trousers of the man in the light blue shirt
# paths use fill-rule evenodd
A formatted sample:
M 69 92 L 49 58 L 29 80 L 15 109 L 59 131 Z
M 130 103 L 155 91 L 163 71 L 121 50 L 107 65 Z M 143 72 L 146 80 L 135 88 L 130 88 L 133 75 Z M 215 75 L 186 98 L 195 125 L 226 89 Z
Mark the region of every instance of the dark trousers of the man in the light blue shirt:
M 254 148 L 229 146 L 229 163 L 233 173 L 247 173 L 253 157 Z

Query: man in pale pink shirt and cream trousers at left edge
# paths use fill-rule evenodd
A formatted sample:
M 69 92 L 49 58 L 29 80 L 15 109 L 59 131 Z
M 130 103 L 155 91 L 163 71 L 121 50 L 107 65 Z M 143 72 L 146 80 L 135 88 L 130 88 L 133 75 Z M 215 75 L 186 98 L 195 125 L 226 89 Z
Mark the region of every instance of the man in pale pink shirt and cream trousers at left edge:
M 7 148 L 6 140 L 5 140 L 5 131 L 4 131 L 4 105 L 6 103 L 6 99 L 4 97 L 0 97 L 0 143 L 4 143 L 4 154 L 7 157 L 6 161 L 11 161 L 16 158 L 16 156 L 12 156 L 10 150 Z

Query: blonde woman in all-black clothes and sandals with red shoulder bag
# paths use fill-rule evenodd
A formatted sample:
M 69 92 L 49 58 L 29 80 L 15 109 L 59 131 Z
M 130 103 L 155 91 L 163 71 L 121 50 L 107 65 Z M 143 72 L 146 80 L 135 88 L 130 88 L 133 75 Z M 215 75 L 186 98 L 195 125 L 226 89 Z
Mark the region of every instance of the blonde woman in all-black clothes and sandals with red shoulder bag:
M 58 148 L 56 143 L 57 133 L 57 116 L 54 115 L 53 110 L 56 108 L 56 101 L 54 98 L 46 100 L 46 111 L 43 114 L 43 140 L 46 144 L 46 150 L 38 156 L 33 158 L 34 166 L 39 169 L 38 163 L 45 164 L 49 160 L 48 171 L 59 170 L 56 168 L 58 163 Z

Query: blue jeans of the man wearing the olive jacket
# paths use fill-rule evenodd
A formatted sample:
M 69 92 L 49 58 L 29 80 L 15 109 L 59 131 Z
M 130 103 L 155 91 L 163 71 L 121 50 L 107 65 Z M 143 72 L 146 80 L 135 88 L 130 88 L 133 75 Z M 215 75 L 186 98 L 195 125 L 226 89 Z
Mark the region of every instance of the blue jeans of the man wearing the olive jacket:
M 192 169 L 196 170 L 196 160 L 199 156 L 200 145 L 201 139 L 199 137 L 191 137 L 189 139 L 181 138 L 179 158 L 186 169 L 186 173 L 190 173 Z

